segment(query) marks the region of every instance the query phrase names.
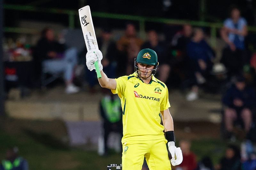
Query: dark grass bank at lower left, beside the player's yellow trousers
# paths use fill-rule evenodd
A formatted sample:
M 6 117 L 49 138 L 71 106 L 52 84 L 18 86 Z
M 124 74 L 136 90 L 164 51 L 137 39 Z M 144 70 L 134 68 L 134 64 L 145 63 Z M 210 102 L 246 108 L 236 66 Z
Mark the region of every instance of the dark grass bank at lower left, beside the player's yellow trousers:
M 32 170 L 105 170 L 107 164 L 121 163 L 120 154 L 112 153 L 109 156 L 101 157 L 96 151 L 54 149 L 25 134 L 14 137 L 0 131 L 0 139 L 0 159 L 4 159 L 8 147 L 18 146 L 20 155 L 28 160 L 29 169 Z

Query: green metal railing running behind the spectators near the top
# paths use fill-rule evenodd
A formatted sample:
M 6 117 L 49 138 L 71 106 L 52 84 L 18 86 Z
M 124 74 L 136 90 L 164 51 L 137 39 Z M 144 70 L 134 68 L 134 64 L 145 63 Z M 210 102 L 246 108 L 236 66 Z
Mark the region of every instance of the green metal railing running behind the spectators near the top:
M 4 4 L 4 9 L 5 10 L 17 10 L 17 11 L 56 13 L 56 14 L 67 15 L 68 26 L 71 29 L 75 28 L 75 21 L 76 21 L 77 15 L 78 15 L 78 11 L 76 11 L 76 10 L 41 8 L 41 7 L 27 6 L 27 5 Z M 211 46 L 212 47 L 216 47 L 217 29 L 219 29 L 223 26 L 223 23 L 212 23 L 212 22 L 180 20 L 180 19 L 178 20 L 178 19 L 157 18 L 157 17 L 154 18 L 154 17 L 114 14 L 114 13 L 105 13 L 105 12 L 93 12 L 93 11 L 92 11 L 92 17 L 138 21 L 139 22 L 139 32 L 140 32 L 141 38 L 145 38 L 145 35 L 146 35 L 146 33 L 145 33 L 146 22 L 173 24 L 173 25 L 190 24 L 192 26 L 208 27 L 211 30 L 210 34 L 211 34 Z M 248 30 L 251 32 L 256 32 L 256 27 L 248 26 Z M 35 29 L 20 28 L 20 27 L 8 27 L 8 26 L 4 27 L 4 31 L 10 32 L 10 33 L 37 33 L 37 30 L 35 30 Z

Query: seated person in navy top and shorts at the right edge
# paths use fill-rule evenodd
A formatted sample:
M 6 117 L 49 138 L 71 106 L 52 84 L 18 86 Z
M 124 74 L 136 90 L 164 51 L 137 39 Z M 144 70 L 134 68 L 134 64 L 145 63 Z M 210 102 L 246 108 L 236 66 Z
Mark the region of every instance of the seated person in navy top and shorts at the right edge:
M 232 85 L 223 96 L 224 122 L 227 136 L 233 133 L 233 124 L 236 120 L 243 121 L 245 132 L 248 133 L 252 124 L 252 108 L 255 107 L 255 92 L 245 83 L 242 76 L 237 76 L 235 85 Z

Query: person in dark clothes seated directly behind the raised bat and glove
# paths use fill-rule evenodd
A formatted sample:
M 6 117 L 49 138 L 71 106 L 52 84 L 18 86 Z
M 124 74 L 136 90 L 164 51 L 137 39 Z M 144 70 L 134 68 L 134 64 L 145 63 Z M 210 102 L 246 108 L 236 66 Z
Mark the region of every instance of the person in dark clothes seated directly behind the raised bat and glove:
M 106 71 L 106 73 L 109 75 L 109 78 L 116 77 L 116 43 L 111 39 L 112 33 L 111 30 L 108 28 L 105 28 L 102 30 L 101 35 L 99 38 L 97 38 L 99 49 L 102 51 L 102 55 L 104 58 L 102 59 L 101 63 L 103 65 Z M 86 50 L 86 49 L 85 49 Z M 84 51 L 84 54 L 86 54 L 86 51 Z M 85 56 L 85 55 L 84 55 Z M 97 77 L 93 71 L 90 71 L 88 69 L 85 70 L 87 78 L 90 87 L 90 92 L 94 93 L 95 90 L 95 84 L 98 82 Z

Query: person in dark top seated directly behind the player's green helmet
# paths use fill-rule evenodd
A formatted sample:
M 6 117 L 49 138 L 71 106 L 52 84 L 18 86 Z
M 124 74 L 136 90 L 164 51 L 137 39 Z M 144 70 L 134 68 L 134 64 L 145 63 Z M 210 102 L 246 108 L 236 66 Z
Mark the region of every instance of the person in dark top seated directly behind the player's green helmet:
M 158 62 L 161 63 L 158 70 L 159 80 L 165 83 L 169 77 L 171 67 L 166 60 L 166 47 L 163 42 L 159 42 L 158 35 L 155 30 L 148 31 L 148 41 L 145 42 L 141 48 L 150 48 L 156 51 L 156 54 L 158 54 Z

